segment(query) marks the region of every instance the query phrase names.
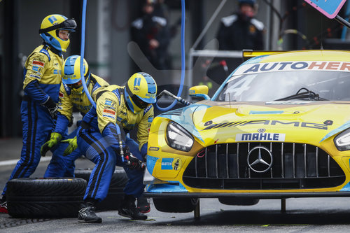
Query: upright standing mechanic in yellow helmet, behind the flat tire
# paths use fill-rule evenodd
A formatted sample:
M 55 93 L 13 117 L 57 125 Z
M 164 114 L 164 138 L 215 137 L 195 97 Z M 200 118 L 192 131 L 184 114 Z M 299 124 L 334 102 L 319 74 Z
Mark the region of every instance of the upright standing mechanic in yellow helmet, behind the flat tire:
M 50 136 L 57 115 L 59 85 L 61 84 L 62 52 L 69 46 L 69 34 L 76 29 L 76 21 L 64 15 L 48 15 L 41 22 L 39 34 L 43 43 L 25 62 L 21 104 L 22 152 L 9 180 L 27 178 L 34 173 L 40 161 L 40 147 Z M 0 203 L 0 212 L 8 213 L 6 189 Z

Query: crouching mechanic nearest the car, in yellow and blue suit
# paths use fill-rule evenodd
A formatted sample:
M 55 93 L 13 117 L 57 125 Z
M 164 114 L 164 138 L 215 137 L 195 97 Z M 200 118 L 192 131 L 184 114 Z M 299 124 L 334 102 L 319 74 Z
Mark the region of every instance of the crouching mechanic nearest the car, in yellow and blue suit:
M 148 129 L 153 120 L 153 106 L 157 85 L 147 73 L 135 73 L 125 87 L 104 87 L 94 97 L 96 108 L 84 116 L 78 128 L 78 148 L 85 157 L 96 164 L 87 185 L 84 204 L 78 213 L 82 222 L 101 223 L 94 205 L 107 195 L 109 183 L 116 165 L 124 167 L 129 178 L 125 185 L 125 199 L 118 213 L 131 219 L 145 220 L 146 215 L 135 206 L 135 198 L 144 192 L 141 161 L 147 153 Z M 120 134 L 137 127 L 137 142 L 132 139 L 119 141 Z M 122 143 L 123 157 L 120 143 Z M 134 155 L 129 155 L 130 153 Z M 127 163 L 130 163 L 127 165 Z

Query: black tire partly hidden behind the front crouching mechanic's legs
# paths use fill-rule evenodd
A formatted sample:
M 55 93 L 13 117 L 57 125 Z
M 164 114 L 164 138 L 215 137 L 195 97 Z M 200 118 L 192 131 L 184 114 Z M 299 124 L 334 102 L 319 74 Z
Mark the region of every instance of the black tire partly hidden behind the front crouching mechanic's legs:
M 76 169 L 74 175 L 76 178 L 83 178 L 88 183 L 91 175 L 91 169 Z M 118 210 L 121 202 L 124 199 L 124 188 L 129 179 L 124 169 L 116 169 L 113 173 L 109 192 L 107 197 L 96 204 L 96 211 L 112 211 Z

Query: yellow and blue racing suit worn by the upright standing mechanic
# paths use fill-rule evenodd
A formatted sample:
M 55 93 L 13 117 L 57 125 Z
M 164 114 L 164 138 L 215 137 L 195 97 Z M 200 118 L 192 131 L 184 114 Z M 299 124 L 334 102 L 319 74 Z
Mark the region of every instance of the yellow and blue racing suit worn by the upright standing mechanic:
M 20 160 L 10 175 L 27 178 L 34 173 L 40 161 L 40 148 L 50 137 L 54 120 L 44 104 L 49 97 L 57 103 L 61 84 L 62 52 L 45 43 L 39 45 L 25 62 L 21 104 L 23 146 Z M 3 189 L 5 195 L 7 184 Z

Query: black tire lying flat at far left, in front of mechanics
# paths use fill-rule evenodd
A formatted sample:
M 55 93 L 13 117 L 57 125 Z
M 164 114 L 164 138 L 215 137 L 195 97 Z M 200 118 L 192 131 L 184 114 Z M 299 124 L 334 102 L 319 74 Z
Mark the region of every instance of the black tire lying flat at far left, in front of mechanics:
M 87 183 L 80 178 L 8 181 L 8 214 L 14 218 L 76 218 Z

